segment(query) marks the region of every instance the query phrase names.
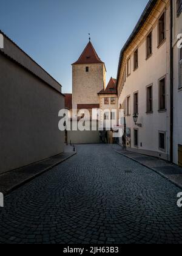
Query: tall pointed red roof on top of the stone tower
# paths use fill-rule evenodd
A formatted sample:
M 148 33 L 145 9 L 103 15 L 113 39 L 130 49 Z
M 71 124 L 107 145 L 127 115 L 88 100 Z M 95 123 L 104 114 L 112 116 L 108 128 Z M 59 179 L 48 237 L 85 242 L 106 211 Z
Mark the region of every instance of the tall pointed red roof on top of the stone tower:
M 80 55 L 77 62 L 73 63 L 75 64 L 95 64 L 95 63 L 104 63 L 101 61 L 101 59 L 98 57 L 93 44 L 89 41 L 86 48 L 84 49 L 83 53 Z

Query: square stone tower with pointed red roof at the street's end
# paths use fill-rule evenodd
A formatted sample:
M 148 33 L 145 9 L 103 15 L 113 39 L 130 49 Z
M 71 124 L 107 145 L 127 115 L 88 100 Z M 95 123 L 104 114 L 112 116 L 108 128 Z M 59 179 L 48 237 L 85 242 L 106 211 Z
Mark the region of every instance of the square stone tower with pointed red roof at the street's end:
M 106 66 L 91 41 L 72 64 L 73 108 L 99 108 L 99 91 L 106 88 Z

